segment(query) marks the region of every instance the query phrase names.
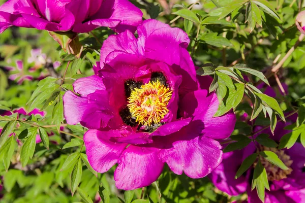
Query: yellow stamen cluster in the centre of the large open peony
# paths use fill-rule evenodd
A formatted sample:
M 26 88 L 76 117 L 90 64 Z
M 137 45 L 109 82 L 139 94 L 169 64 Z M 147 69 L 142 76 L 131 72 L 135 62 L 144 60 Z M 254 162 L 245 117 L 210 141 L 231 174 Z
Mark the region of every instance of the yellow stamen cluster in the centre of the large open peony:
M 139 124 L 150 126 L 160 123 L 169 112 L 167 105 L 171 95 L 172 90 L 160 81 L 149 82 L 131 92 L 127 107 Z

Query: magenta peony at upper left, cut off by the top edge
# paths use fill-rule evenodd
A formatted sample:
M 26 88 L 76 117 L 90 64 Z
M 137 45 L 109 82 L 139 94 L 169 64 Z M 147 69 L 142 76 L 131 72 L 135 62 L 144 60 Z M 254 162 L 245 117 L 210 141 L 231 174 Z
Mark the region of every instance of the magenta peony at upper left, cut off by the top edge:
M 0 7 L 0 32 L 10 26 L 88 32 L 110 27 L 134 29 L 142 12 L 127 0 L 9 0 Z

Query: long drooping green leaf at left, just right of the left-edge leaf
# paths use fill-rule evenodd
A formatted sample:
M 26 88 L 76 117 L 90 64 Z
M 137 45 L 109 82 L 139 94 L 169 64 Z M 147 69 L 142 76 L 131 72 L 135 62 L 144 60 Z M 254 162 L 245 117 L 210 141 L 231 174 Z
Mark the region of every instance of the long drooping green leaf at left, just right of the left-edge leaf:
M 24 167 L 28 160 L 34 155 L 35 146 L 36 146 L 36 136 L 37 136 L 37 127 L 36 130 L 29 130 L 29 136 L 26 141 L 23 143 L 20 152 L 20 162 L 22 167 Z

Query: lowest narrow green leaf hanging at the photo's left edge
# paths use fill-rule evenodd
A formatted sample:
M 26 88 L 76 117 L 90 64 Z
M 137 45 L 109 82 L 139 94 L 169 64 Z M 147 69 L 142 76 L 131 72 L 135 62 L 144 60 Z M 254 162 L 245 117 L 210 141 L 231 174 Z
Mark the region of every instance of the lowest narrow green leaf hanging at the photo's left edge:
M 6 171 L 9 170 L 11 159 L 15 151 L 15 144 L 16 141 L 14 136 L 11 136 L 0 150 L 0 156 L 3 158 L 3 163 Z

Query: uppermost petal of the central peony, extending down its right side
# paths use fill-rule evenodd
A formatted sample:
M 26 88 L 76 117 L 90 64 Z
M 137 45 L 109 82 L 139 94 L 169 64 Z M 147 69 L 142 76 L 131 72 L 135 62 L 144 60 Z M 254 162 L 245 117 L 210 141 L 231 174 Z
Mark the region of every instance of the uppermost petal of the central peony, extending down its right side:
M 138 26 L 138 47 L 150 59 L 163 61 L 182 76 L 179 95 L 198 89 L 193 60 L 187 51 L 186 32 L 157 20 L 145 20 Z M 175 65 L 174 65 L 175 64 Z

